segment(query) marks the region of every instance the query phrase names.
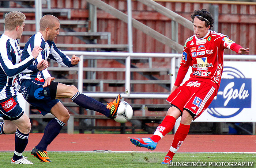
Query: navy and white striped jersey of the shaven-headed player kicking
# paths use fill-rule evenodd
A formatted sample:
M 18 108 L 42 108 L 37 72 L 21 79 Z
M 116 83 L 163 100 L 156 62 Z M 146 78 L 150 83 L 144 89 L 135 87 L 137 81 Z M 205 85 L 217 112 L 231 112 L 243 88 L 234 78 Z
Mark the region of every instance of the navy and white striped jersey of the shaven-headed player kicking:
M 59 48 L 56 47 L 54 42 L 49 40 L 45 41 L 44 37 L 40 32 L 37 32 L 33 36 L 30 37 L 28 42 L 25 44 L 24 50 L 22 51 L 21 60 L 28 58 L 32 55 L 32 50 L 35 46 L 40 46 L 43 51 L 41 54 L 39 53 L 37 59 L 33 62 L 34 65 L 37 65 L 42 59 L 52 59 L 58 62 L 61 66 L 64 67 L 72 67 L 75 65 L 71 64 L 71 59 L 65 55 Z M 38 73 L 31 73 L 31 74 L 20 74 L 19 81 L 21 82 L 22 79 L 35 79 L 35 78 L 43 78 L 46 79 L 50 77 L 50 74 L 47 69 L 39 71 Z

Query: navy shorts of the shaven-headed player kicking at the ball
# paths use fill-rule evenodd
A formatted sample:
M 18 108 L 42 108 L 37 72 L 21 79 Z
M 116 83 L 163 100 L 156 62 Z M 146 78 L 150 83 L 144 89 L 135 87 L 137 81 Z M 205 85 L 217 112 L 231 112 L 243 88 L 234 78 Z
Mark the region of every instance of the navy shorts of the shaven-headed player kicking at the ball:
M 25 100 L 45 116 L 59 102 L 58 99 L 55 99 L 58 83 L 52 81 L 47 87 L 43 87 L 43 85 L 42 80 L 23 79 L 20 89 Z

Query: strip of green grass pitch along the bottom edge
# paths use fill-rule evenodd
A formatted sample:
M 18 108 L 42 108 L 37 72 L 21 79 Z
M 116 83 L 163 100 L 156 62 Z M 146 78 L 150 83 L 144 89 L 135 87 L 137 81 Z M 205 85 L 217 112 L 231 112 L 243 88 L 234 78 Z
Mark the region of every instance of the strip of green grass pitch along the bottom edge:
M 13 152 L 0 152 L 0 168 L 8 167 L 38 167 L 38 168 L 162 168 L 167 167 L 161 162 L 166 153 L 161 152 L 48 152 L 52 163 L 42 163 L 30 152 L 24 156 L 34 165 L 10 164 Z M 173 162 L 254 162 L 250 167 L 256 167 L 255 153 L 176 153 Z M 227 164 L 227 163 L 226 163 Z M 181 166 L 179 166 L 181 167 Z M 191 166 L 187 166 L 191 167 Z M 195 167 L 195 166 L 194 166 Z M 197 166 L 198 167 L 198 166 Z M 205 166 L 204 166 L 205 167 Z M 209 167 L 209 166 L 208 166 Z M 220 166 L 215 166 L 220 167 Z M 227 166 L 223 166 L 227 167 Z M 246 166 L 248 167 L 248 166 Z

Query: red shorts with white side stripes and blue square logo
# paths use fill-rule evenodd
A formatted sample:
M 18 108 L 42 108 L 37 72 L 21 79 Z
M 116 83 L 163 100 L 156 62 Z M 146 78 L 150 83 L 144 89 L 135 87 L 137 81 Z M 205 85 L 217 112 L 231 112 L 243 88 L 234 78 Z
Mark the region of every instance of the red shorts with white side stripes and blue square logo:
M 193 120 L 208 108 L 216 95 L 215 88 L 202 81 L 187 81 L 173 91 L 166 99 L 172 106 L 176 106 L 182 113 L 187 110 Z

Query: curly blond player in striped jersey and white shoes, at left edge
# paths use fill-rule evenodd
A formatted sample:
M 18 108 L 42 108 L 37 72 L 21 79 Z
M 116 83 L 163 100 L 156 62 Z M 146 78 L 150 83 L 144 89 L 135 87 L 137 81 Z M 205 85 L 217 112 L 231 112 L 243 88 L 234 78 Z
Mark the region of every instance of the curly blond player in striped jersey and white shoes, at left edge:
M 0 134 L 15 133 L 15 151 L 11 159 L 13 164 L 33 164 L 22 155 L 29 141 L 31 124 L 17 101 L 16 75 L 38 72 L 48 67 L 46 60 L 41 60 L 37 66 L 31 65 L 42 51 L 39 46 L 35 46 L 31 56 L 20 62 L 21 53 L 17 39 L 21 38 L 25 19 L 26 16 L 21 12 L 6 13 L 4 34 L 0 36 L 0 117 L 4 120 L 0 122 Z

